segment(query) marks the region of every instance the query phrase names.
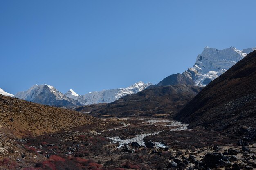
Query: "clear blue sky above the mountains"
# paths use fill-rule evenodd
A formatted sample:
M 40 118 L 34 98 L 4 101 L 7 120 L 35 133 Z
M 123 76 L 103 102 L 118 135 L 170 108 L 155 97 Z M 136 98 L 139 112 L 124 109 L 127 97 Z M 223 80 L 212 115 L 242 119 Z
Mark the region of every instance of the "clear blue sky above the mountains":
M 205 46 L 256 46 L 255 0 L 1 0 L 0 88 L 158 83 Z

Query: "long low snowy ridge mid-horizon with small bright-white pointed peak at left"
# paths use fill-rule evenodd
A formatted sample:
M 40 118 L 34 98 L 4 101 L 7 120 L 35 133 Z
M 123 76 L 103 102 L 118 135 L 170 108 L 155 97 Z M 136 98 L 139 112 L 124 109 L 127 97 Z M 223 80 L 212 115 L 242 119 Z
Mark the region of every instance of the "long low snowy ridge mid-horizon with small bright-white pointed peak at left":
M 151 83 L 143 83 L 142 81 L 135 83 L 127 88 L 103 90 L 100 92 L 90 92 L 85 95 L 78 95 L 73 90 L 69 90 L 65 95 L 69 98 L 78 100 L 83 105 L 90 105 L 94 103 L 110 103 L 127 94 L 134 94 L 146 89 Z

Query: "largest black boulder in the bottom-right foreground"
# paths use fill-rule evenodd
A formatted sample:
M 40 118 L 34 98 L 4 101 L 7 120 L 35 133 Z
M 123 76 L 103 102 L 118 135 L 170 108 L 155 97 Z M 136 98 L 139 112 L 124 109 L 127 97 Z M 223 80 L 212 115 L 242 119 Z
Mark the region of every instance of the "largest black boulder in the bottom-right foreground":
M 207 153 L 203 158 L 203 163 L 210 168 L 225 167 L 228 162 L 227 157 L 222 153 Z

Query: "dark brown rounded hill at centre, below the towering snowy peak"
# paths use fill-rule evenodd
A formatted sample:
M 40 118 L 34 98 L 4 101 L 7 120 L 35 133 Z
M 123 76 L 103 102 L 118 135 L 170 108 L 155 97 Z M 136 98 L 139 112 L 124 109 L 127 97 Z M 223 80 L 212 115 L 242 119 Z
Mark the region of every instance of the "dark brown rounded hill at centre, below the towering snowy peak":
M 91 114 L 93 116 L 170 115 L 180 111 L 201 89 L 193 85 L 153 87 L 103 105 Z

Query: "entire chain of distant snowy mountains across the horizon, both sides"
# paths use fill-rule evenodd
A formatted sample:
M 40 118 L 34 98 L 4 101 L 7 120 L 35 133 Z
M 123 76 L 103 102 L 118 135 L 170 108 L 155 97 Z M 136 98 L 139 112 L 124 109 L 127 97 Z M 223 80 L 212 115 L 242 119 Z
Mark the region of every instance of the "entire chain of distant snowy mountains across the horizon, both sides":
M 66 94 L 62 94 L 53 86 L 44 84 L 34 85 L 27 91 L 18 92 L 14 97 L 44 105 L 74 107 L 97 103 L 111 103 L 127 94 L 135 94 L 148 87 L 153 88 L 180 84 L 204 87 L 255 49 L 256 48 L 247 48 L 237 50 L 234 47 L 230 47 L 224 50 L 218 50 L 205 47 L 203 52 L 197 56 L 196 62 L 192 68 L 189 68 L 182 74 L 172 74 L 156 85 L 140 81 L 127 88 L 103 90 L 79 95 L 72 89 Z M 12 94 L 4 92 L 2 89 L 0 89 L 0 94 L 13 96 Z

